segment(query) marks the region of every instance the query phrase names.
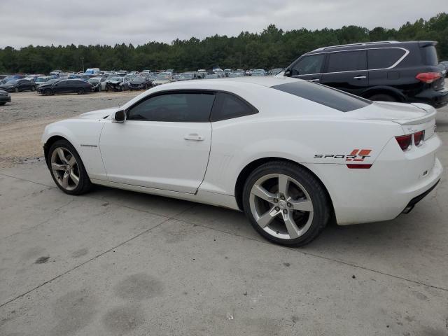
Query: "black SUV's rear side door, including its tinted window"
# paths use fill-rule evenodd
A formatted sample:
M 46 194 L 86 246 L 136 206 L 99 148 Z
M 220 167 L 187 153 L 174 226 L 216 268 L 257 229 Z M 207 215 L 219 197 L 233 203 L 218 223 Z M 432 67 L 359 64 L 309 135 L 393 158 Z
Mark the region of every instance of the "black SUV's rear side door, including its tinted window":
M 321 84 L 361 94 L 369 85 L 367 51 L 330 52 L 322 74 Z

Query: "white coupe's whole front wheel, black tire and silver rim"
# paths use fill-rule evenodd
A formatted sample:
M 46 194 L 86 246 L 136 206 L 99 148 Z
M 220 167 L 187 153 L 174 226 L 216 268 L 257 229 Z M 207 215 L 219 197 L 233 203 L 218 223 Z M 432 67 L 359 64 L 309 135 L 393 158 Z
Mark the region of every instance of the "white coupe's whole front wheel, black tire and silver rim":
M 58 140 L 48 151 L 48 168 L 56 185 L 64 193 L 80 195 L 92 187 L 76 149 L 66 140 Z

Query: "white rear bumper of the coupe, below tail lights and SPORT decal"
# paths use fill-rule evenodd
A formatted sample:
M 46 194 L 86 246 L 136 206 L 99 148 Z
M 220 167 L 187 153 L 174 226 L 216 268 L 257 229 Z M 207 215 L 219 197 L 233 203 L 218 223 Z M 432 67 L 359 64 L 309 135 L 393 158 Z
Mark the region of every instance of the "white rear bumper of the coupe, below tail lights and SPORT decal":
M 390 221 L 437 185 L 443 172 L 435 158 L 441 144 L 437 134 L 406 154 L 394 151 L 401 151 L 394 141 L 386 145 L 370 169 L 309 165 L 327 187 L 339 225 Z

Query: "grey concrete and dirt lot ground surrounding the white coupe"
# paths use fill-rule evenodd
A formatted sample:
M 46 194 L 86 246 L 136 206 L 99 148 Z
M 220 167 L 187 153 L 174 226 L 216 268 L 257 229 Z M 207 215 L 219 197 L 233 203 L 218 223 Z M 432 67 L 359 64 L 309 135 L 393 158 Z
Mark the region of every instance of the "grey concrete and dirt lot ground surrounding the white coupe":
M 448 334 L 447 108 L 442 181 L 410 214 L 284 248 L 237 211 L 56 188 L 43 127 L 138 93 L 0 107 L 0 335 Z

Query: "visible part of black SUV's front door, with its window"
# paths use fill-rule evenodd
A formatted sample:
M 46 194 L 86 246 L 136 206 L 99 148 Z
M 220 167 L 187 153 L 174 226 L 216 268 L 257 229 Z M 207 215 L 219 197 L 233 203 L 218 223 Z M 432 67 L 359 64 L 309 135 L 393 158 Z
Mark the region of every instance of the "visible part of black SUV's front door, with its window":
M 324 64 L 325 54 L 305 55 L 297 59 L 293 66 L 290 66 L 286 75 L 311 82 L 319 82 Z

